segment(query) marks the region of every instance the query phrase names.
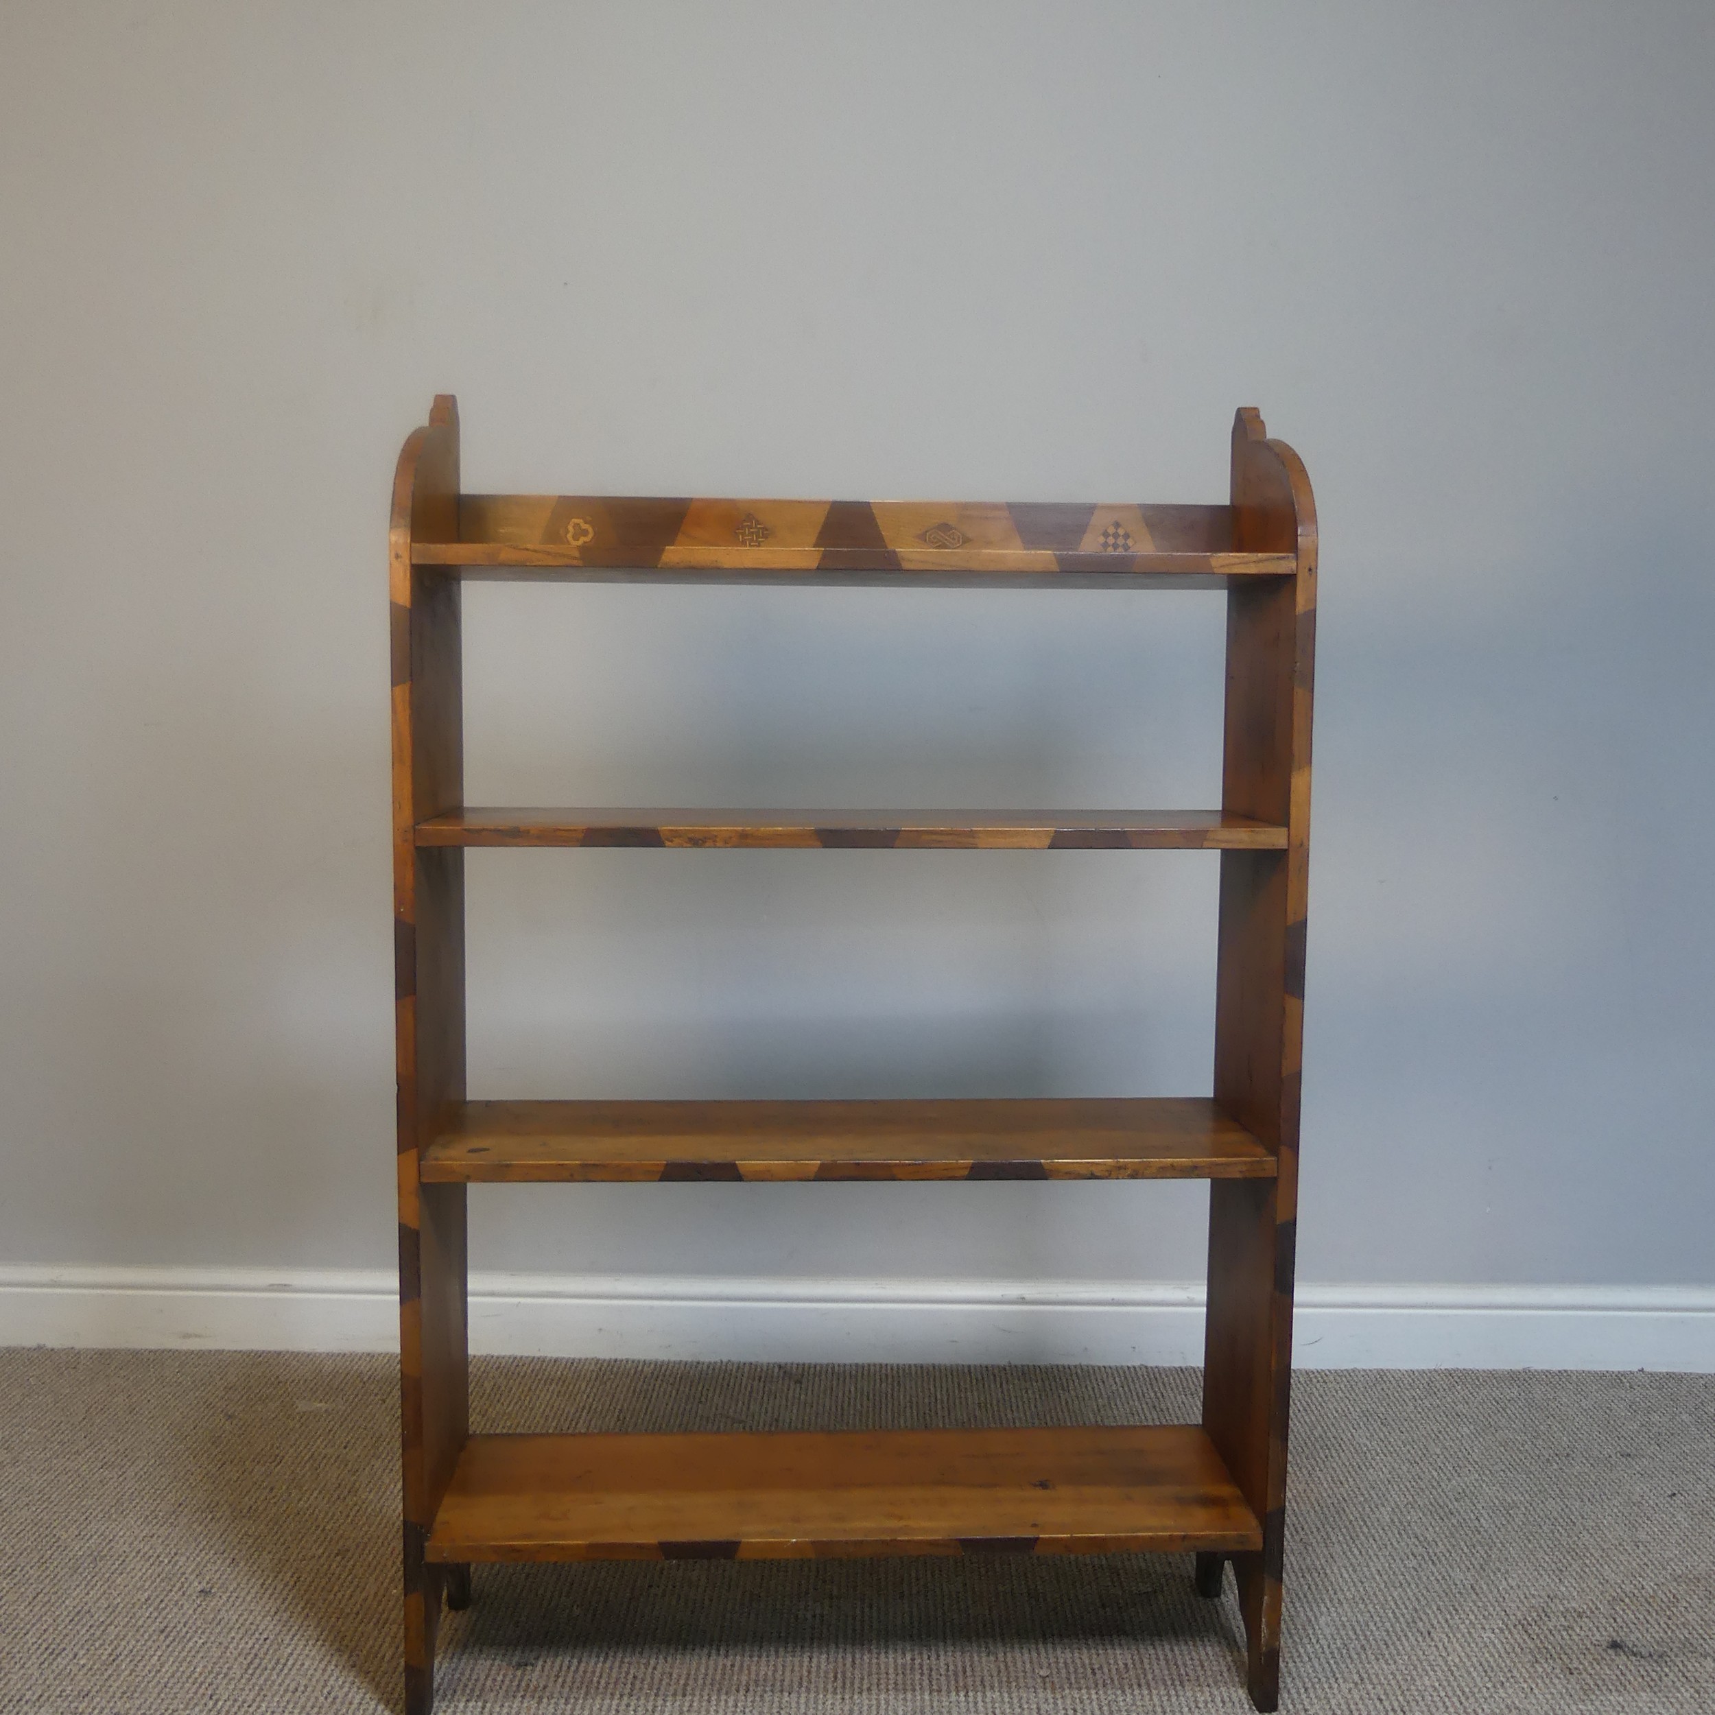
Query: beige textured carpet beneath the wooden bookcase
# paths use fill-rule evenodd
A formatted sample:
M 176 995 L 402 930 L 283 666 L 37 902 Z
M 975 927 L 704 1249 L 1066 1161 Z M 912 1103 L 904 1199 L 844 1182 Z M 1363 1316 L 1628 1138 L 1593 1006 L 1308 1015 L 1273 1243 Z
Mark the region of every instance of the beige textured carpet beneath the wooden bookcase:
M 1176 1420 L 1195 1375 L 487 1362 L 485 1429 Z M 393 1367 L 0 1353 L 0 1710 L 400 1698 Z M 1715 1377 L 1305 1374 L 1283 1708 L 1708 1712 Z M 477 1568 L 444 1715 L 1249 1708 L 1183 1557 Z

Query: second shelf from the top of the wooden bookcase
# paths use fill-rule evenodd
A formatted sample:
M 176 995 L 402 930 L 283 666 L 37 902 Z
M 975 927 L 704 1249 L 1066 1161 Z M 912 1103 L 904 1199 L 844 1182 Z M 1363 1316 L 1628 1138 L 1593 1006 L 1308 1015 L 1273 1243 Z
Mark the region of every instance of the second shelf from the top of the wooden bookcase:
M 1274 851 L 1286 828 L 1219 809 L 466 808 L 420 821 L 417 844 Z

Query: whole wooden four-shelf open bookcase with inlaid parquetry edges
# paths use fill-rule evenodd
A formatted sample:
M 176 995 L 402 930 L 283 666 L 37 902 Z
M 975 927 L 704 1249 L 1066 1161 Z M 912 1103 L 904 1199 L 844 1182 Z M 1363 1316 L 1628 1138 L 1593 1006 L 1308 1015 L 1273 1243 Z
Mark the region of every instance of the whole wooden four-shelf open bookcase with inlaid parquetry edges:
M 1279 1681 L 1315 506 L 1254 410 L 1228 506 L 460 494 L 437 398 L 393 487 L 405 1686 L 434 1698 L 473 1561 L 1195 1554 L 1231 1561 L 1249 1688 Z M 1226 592 L 1219 809 L 484 809 L 465 804 L 465 578 Z M 465 847 L 1194 847 L 1221 854 L 1207 1096 L 468 1101 Z M 882 1434 L 472 1435 L 465 1187 L 490 1180 L 1206 1178 L 1202 1422 Z

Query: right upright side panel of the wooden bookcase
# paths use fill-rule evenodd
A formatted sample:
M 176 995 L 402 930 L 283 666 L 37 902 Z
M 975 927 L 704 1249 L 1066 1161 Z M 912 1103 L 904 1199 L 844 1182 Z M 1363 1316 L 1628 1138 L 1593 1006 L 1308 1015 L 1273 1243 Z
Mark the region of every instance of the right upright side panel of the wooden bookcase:
M 1297 573 L 1235 585 L 1226 605 L 1223 808 L 1286 823 L 1285 851 L 1221 858 L 1214 1098 L 1279 1163 L 1273 1182 L 1209 1192 L 1204 1427 L 1262 1521 L 1233 1557 L 1252 1703 L 1279 1701 L 1291 1302 L 1298 1214 L 1305 907 L 1310 863 L 1310 703 L 1315 657 L 1315 499 L 1303 463 L 1262 418 L 1233 422 L 1233 533 L 1291 552 Z

